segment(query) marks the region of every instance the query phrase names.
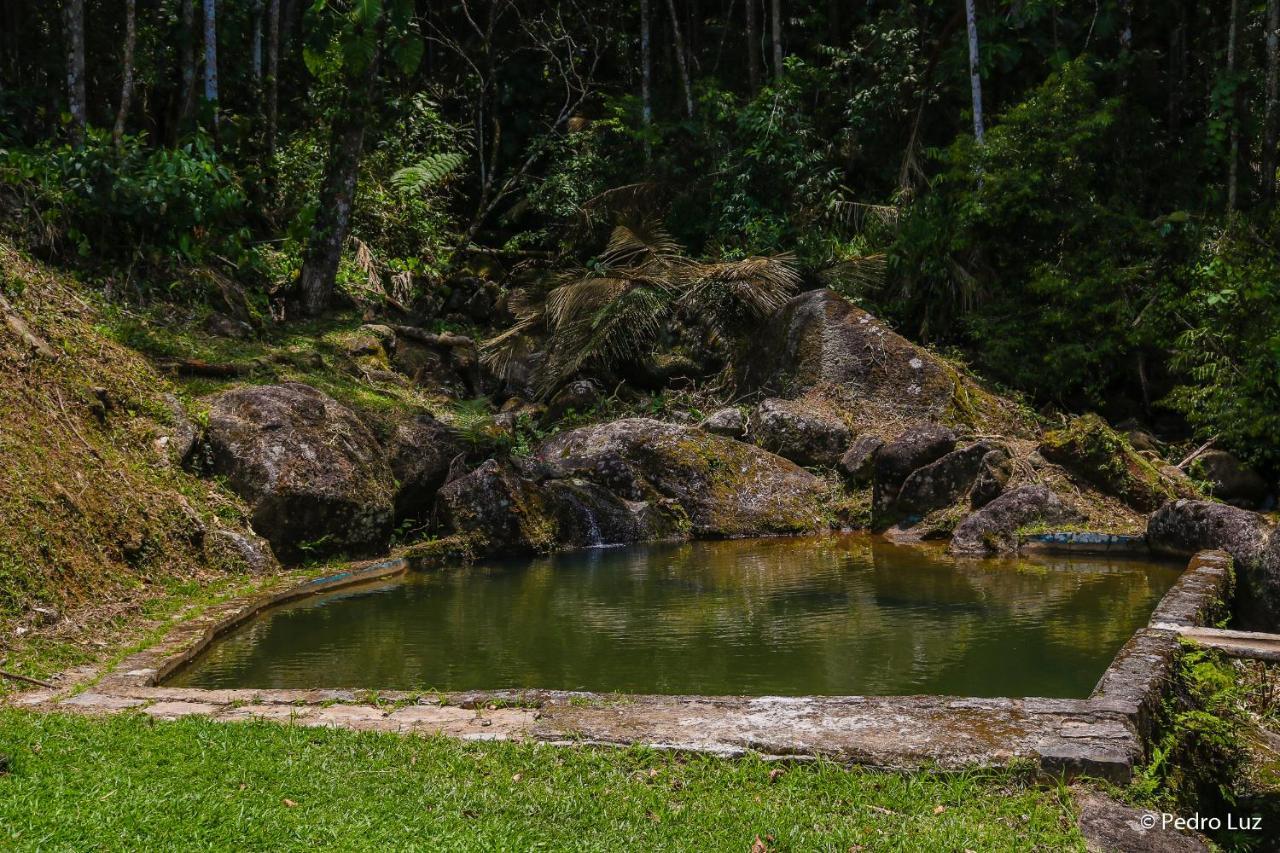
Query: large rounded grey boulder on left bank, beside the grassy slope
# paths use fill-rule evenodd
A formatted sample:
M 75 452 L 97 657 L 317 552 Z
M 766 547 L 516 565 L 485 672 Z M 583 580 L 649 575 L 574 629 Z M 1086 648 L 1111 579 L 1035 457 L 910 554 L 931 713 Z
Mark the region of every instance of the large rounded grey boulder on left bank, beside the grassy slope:
M 247 386 L 210 401 L 209 465 L 252 510 L 285 561 L 370 553 L 392 530 L 390 466 L 349 409 L 301 383 Z

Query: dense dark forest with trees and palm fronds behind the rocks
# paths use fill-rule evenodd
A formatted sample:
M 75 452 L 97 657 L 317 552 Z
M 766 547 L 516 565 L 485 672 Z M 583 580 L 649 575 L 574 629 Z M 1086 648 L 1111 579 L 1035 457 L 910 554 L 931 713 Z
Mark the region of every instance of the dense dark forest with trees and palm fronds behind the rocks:
M 520 293 L 499 346 L 562 338 L 556 384 L 803 282 L 1038 406 L 1280 465 L 1280 0 L 0 15 L 4 228 L 109 298 L 431 316 L 479 274 Z

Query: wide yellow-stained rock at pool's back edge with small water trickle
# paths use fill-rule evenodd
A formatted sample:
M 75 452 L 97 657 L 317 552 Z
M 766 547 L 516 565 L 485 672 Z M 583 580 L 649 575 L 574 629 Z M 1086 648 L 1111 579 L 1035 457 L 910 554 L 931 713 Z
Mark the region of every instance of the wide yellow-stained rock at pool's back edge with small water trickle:
M 634 418 L 561 433 L 520 469 L 494 460 L 448 483 L 448 528 L 479 553 L 687 537 L 812 532 L 822 480 L 758 447 Z

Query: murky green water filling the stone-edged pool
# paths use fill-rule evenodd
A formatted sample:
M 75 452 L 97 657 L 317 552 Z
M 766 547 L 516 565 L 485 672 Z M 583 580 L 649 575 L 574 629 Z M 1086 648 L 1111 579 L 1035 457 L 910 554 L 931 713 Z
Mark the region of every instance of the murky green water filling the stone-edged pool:
M 168 684 L 1083 698 L 1178 574 L 867 535 L 603 548 L 301 599 Z

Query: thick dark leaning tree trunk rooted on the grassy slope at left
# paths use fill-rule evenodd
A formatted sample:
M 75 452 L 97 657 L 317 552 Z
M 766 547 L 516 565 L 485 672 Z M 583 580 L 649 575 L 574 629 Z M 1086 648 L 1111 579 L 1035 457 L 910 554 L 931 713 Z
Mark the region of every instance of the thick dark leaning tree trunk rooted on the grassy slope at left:
M 360 155 L 365 146 L 365 126 L 369 123 L 369 108 L 378 83 L 380 47 L 380 44 L 375 44 L 374 56 L 361 73 L 361 78 L 347 81 L 342 109 L 333 119 L 329 160 L 325 164 L 324 183 L 320 186 L 316 218 L 311 227 L 302 270 L 298 273 L 302 307 L 311 316 L 329 306 L 338 277 L 338 264 L 342 261 L 342 248 L 351 231 Z

